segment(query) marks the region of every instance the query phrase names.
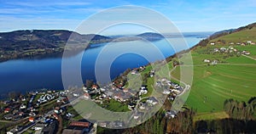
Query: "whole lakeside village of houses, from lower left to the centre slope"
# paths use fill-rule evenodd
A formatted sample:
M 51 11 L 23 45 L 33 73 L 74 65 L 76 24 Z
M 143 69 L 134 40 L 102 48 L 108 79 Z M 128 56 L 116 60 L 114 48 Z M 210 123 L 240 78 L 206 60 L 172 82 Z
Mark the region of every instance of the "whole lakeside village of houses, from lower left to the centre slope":
M 136 76 L 144 69 L 143 66 L 137 70 L 131 70 L 130 74 Z M 154 77 L 154 73 L 154 70 L 151 70 L 148 77 Z M 154 87 L 166 87 L 165 90 L 160 90 L 160 94 L 165 95 L 168 101 L 173 101 L 183 92 L 183 87 L 166 78 L 155 81 Z M 123 105 L 125 111 L 136 111 L 132 118 L 138 121 L 142 120 L 143 114 L 154 109 L 160 101 L 154 96 L 151 97 L 147 85 L 131 89 L 125 87 L 125 83 L 113 81 L 104 87 L 91 83 L 90 87 L 84 85 L 81 89 L 83 92 L 42 90 L 29 92 L 26 95 L 20 94 L 15 98 L 2 101 L 0 110 L 3 114 L 0 114 L 0 122 L 6 124 L 1 127 L 7 128 L 8 134 L 27 131 L 31 131 L 28 133 L 55 133 L 56 131 L 62 131 L 64 134 L 70 131 L 96 133 L 97 125 L 84 120 L 76 113 L 70 104 L 72 100 L 67 94 L 72 94 L 74 98 L 83 97 L 91 100 L 105 109 L 108 109 L 111 103 L 119 103 Z M 166 109 L 166 116 L 174 118 L 175 114 Z M 122 126 L 123 123 L 119 122 L 118 126 Z M 113 124 L 100 122 L 99 126 L 108 127 Z

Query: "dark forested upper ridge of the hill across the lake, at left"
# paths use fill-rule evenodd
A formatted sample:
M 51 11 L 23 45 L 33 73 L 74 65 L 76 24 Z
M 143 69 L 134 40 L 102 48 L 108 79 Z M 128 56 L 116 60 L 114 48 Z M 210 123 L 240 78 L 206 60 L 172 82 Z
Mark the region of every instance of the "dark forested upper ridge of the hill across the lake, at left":
M 64 46 L 71 34 L 76 36 L 76 42 L 105 42 L 108 36 L 80 35 L 73 31 L 63 30 L 35 30 L 12 31 L 0 33 L 0 50 L 28 50 L 38 48 L 55 48 Z

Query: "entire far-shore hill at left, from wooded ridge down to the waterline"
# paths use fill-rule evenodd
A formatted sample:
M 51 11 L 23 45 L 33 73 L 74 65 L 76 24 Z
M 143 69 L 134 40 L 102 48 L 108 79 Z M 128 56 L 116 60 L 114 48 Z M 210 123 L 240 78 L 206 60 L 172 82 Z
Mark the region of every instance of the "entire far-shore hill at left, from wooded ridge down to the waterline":
M 72 39 L 69 40 L 73 34 Z M 62 53 L 67 41 L 76 43 L 111 42 L 113 39 L 101 35 L 81 35 L 64 30 L 11 31 L 0 33 L 0 61 L 33 57 L 46 53 Z

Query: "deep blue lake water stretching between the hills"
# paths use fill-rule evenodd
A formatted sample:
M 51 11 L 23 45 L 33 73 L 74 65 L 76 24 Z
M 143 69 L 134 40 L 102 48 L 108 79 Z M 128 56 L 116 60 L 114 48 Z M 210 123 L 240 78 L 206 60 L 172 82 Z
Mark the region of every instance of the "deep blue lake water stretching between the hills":
M 196 37 L 186 37 L 184 39 L 189 47 L 193 47 L 197 42 L 201 41 L 201 38 Z M 182 47 L 182 38 L 168 38 L 167 40 L 170 41 L 172 45 L 176 46 L 177 52 L 187 48 Z M 160 50 L 164 58 L 175 53 L 172 45 L 166 42 L 166 40 L 156 41 L 153 42 L 153 44 Z M 78 59 L 79 56 L 82 56 L 81 75 L 83 80 L 95 80 L 95 64 L 97 56 L 107 45 L 107 43 L 93 45 L 93 47 L 89 47 L 84 52 L 66 59 L 75 60 Z M 108 52 L 109 54 L 119 51 L 119 47 L 116 45 L 122 46 L 121 49 L 125 49 L 128 52 L 131 47 L 136 47 L 138 51 L 148 53 L 151 61 L 148 61 L 143 58 L 143 56 L 137 55 L 136 53 L 124 53 L 119 55 L 119 57 L 113 60 L 113 64 L 111 65 L 110 76 L 112 79 L 128 68 L 136 68 L 148 64 L 148 62 L 158 60 L 158 58 L 155 57 L 155 54 L 148 48 L 148 45 L 150 44 L 146 42 L 115 42 L 114 44 L 108 45 L 108 48 L 110 48 Z M 108 59 L 108 56 L 105 56 L 105 58 Z M 61 81 L 61 60 L 61 56 L 51 56 L 40 59 L 15 59 L 0 63 L 0 93 L 2 94 L 2 97 L 11 91 L 26 92 L 42 88 L 63 89 Z M 108 62 L 108 60 L 105 61 Z M 102 64 L 102 70 L 104 70 L 103 68 L 104 64 Z M 72 69 L 70 71 L 72 71 Z

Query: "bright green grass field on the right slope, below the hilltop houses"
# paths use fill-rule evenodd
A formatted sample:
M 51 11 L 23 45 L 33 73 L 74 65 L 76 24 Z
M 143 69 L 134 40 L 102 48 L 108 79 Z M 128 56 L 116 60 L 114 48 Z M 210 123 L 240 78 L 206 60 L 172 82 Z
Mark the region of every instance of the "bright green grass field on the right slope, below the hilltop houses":
M 256 46 L 252 45 L 239 46 L 237 49 L 241 47 L 253 50 L 253 53 L 256 49 Z M 244 56 L 224 59 L 223 54 L 200 54 L 201 49 L 206 51 L 208 48 L 196 48 L 191 54 L 194 79 L 186 102 L 190 108 L 197 109 L 198 114 L 221 112 L 224 100 L 228 98 L 247 102 L 249 98 L 256 96 L 256 60 Z M 189 54 L 184 54 L 180 60 L 184 65 L 192 65 L 188 59 Z M 221 63 L 208 65 L 202 62 L 203 59 L 219 59 Z M 183 70 L 186 70 L 186 66 L 183 66 Z M 172 71 L 172 76 L 179 79 L 179 75 L 180 67 L 177 67 Z

